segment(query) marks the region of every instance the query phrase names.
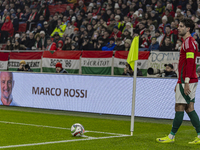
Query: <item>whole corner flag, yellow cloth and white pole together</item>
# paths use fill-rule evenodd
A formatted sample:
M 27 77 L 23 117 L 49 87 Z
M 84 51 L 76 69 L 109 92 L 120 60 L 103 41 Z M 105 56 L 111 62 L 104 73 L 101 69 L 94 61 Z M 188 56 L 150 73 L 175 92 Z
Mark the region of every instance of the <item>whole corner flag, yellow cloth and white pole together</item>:
M 139 51 L 139 36 L 134 37 L 131 47 L 128 53 L 127 63 L 131 66 L 134 71 L 133 76 L 133 96 L 132 96 L 132 109 L 131 109 L 131 136 L 134 131 L 134 116 L 135 116 L 135 95 L 136 95 L 136 77 L 137 77 L 137 60 Z

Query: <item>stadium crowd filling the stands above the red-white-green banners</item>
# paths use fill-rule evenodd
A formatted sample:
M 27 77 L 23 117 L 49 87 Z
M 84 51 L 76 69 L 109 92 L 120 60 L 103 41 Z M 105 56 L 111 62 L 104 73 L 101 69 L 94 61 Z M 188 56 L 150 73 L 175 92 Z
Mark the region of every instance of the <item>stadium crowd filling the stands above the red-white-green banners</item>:
M 139 35 L 139 47 L 179 51 L 178 24 L 195 22 L 192 36 L 200 43 L 199 0 L 0 0 L 0 42 L 6 50 L 128 51 Z M 53 6 L 66 9 L 51 13 Z M 72 6 L 72 7 L 71 7 Z M 21 24 L 25 32 L 18 32 Z

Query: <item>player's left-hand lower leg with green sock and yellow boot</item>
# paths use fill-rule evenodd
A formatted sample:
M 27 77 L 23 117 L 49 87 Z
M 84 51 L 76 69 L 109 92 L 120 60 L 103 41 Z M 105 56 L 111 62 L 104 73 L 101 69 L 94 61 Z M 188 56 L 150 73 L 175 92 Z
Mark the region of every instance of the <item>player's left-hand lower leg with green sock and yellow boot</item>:
M 175 141 L 175 134 L 183 122 L 184 110 L 186 104 L 175 104 L 175 117 L 173 120 L 173 125 L 171 132 L 168 136 L 163 138 L 157 138 L 156 141 L 159 143 L 173 143 Z

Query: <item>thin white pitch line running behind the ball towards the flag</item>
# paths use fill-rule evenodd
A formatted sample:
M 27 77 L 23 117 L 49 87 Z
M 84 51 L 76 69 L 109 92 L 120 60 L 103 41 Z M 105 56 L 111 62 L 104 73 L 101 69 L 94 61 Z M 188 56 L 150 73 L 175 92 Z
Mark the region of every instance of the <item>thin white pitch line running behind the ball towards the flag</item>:
M 44 128 L 61 129 L 61 130 L 70 130 L 70 128 L 54 127 L 54 126 L 45 126 L 45 125 L 36 125 L 36 124 L 27 124 L 27 123 L 19 123 L 19 122 L 0 121 L 0 123 L 5 123 L 5 124 L 18 124 L 18 125 L 23 125 L 23 126 L 44 127 Z M 126 136 L 126 134 L 110 133 L 110 132 L 100 132 L 100 131 L 89 131 L 89 130 L 86 130 L 85 132 L 93 132 L 93 133 L 102 133 L 102 134 Z

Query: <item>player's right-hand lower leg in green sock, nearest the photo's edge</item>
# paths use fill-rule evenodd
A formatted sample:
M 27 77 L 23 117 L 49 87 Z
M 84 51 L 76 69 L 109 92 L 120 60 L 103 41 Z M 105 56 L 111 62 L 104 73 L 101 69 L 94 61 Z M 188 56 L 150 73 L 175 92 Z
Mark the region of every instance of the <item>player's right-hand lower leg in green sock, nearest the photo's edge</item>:
M 190 104 L 186 106 L 185 111 L 187 112 L 190 121 L 197 132 L 197 137 L 195 138 L 194 141 L 189 142 L 189 144 L 200 144 L 200 122 L 199 122 L 199 116 L 194 110 L 194 102 L 190 102 Z

